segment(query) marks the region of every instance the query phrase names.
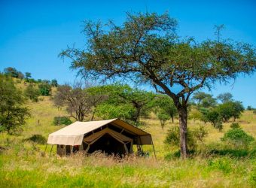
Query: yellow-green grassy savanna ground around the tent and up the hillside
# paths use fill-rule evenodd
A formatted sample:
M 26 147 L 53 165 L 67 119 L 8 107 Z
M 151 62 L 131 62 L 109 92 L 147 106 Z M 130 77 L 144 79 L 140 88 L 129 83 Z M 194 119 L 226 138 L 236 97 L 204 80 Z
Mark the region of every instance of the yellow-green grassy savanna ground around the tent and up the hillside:
M 220 138 L 230 123 L 224 124 L 222 132 L 210 124 L 193 120 L 189 127 L 206 126 L 209 135 L 200 144 L 197 154 L 190 159 L 176 157 L 177 147 L 163 144 L 168 122 L 164 132 L 159 121 L 151 116 L 145 122 L 145 131 L 154 139 L 157 160 L 151 147 L 144 147 L 149 157 L 130 156 L 124 159 L 75 155 L 56 157 L 44 153 L 44 138 L 62 126 L 53 126 L 53 117 L 66 115 L 64 109 L 53 107 L 50 97 L 37 103 L 29 103 L 32 117 L 27 120 L 23 132 L 18 135 L 0 136 L 0 187 L 254 187 L 256 186 L 256 147 L 248 150 L 232 150 Z M 38 123 L 39 120 L 39 123 Z M 256 138 L 256 114 L 245 111 L 239 123 L 245 132 Z M 32 135 L 44 138 L 30 141 Z M 30 138 L 30 140 L 28 139 Z M 252 150 L 252 151 L 251 151 Z M 212 152 L 215 151 L 215 152 Z

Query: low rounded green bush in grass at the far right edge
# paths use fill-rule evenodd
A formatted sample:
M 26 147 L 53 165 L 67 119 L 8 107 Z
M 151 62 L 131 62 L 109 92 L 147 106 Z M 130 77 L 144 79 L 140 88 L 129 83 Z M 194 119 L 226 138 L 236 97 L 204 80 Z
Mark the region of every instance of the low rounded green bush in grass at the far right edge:
M 221 141 L 226 141 L 229 144 L 233 144 L 234 147 L 247 148 L 250 142 L 254 141 L 254 138 L 244 132 L 241 128 L 234 128 L 228 130 L 224 134 L 224 137 L 221 138 Z

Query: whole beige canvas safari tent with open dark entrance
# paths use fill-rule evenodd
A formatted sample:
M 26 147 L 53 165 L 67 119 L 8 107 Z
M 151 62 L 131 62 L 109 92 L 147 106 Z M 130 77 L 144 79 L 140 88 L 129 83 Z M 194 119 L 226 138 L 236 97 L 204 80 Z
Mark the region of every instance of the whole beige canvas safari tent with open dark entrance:
M 49 135 L 47 144 L 56 145 L 56 153 L 66 156 L 77 151 L 122 155 L 133 153 L 133 145 L 143 152 L 142 145 L 151 144 L 151 134 L 119 119 L 75 122 Z M 47 146 L 46 146 L 47 147 Z M 46 150 L 45 147 L 45 150 Z

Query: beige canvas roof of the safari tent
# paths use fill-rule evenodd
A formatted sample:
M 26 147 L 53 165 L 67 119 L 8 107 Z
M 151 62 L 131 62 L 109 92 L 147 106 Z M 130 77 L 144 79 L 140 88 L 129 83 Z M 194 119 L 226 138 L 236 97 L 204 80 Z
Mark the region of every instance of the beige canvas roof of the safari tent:
M 90 122 L 75 122 L 69 126 L 59 129 L 49 135 L 47 144 L 63 144 L 63 145 L 81 145 L 84 134 L 92 132 L 102 126 L 111 123 L 115 126 L 119 126 L 134 135 L 139 136 L 140 144 L 151 144 L 151 135 L 148 132 L 138 129 L 135 126 L 119 120 L 101 120 L 101 121 L 90 121 Z M 120 136 L 120 135 L 119 135 Z

